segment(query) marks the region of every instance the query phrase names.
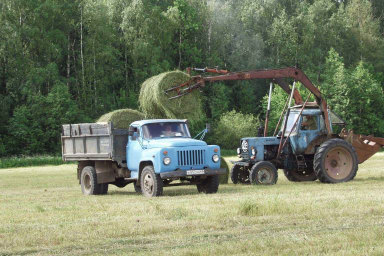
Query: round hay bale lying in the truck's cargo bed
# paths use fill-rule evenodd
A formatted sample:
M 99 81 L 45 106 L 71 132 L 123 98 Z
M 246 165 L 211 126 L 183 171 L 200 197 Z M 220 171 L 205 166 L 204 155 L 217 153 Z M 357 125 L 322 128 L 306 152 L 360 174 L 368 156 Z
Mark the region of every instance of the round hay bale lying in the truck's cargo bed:
M 112 122 L 117 129 L 127 129 L 134 121 L 144 119 L 144 115 L 134 109 L 117 109 L 101 115 L 96 122 Z

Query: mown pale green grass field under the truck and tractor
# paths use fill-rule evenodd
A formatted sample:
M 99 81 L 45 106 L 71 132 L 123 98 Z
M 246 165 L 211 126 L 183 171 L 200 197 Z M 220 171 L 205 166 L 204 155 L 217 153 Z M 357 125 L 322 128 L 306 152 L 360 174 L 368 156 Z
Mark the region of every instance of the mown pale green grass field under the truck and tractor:
M 351 182 L 83 196 L 76 166 L 0 170 L 0 255 L 383 255 L 384 153 Z

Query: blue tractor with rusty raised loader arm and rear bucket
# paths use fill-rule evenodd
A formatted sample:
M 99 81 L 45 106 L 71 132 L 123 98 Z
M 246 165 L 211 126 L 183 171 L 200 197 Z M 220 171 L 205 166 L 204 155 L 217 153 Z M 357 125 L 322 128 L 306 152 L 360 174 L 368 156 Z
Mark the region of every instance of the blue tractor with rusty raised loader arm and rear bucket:
M 278 168 L 283 169 L 285 176 L 291 181 L 349 181 L 356 175 L 358 164 L 384 145 L 384 138 L 354 134 L 352 129 L 342 129 L 339 134 L 334 133 L 332 125 L 342 126 L 345 122 L 329 110 L 319 89 L 297 67 L 239 72 L 218 68 L 187 68 L 189 73 L 192 70 L 216 74 L 194 75 L 189 81 L 165 90 L 170 99 L 201 88 L 205 82 L 270 80 L 265 125 L 259 129 L 257 137 L 240 139 L 237 155 L 241 159 L 232 161 L 233 167 L 230 170 L 233 183 L 274 184 L 277 181 Z M 292 87 L 285 78 L 293 79 Z M 295 88 L 296 81 L 310 91 L 305 102 Z M 273 135 L 267 136 L 273 84 L 280 86 L 289 96 Z M 314 102 L 308 102 L 311 95 L 314 96 Z M 295 103 L 293 106 L 292 99 Z M 283 121 L 279 129 L 281 120 Z

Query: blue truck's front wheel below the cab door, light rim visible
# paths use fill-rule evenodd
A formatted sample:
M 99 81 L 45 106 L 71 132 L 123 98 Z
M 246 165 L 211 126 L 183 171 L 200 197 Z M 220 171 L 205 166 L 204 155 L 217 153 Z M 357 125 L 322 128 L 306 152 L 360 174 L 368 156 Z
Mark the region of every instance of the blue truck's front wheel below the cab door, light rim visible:
M 146 197 L 162 195 L 162 179 L 160 174 L 154 172 L 152 165 L 145 166 L 141 171 L 140 187 L 141 192 Z

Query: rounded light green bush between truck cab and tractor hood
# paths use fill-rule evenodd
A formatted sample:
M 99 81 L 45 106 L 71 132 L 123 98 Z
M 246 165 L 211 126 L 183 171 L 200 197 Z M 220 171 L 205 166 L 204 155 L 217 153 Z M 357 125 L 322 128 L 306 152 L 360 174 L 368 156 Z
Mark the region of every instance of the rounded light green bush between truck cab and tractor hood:
M 209 139 L 222 148 L 236 148 L 240 138 L 257 134 L 258 126 L 259 121 L 252 114 L 232 110 L 221 115 Z

